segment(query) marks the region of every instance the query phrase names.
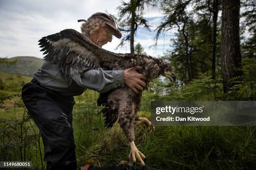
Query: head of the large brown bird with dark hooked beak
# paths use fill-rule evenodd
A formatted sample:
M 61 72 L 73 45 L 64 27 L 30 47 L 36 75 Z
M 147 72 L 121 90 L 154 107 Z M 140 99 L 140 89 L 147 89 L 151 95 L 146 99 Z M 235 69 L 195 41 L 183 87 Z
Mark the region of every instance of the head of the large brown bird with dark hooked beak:
M 164 77 L 167 77 L 172 82 L 175 82 L 176 76 L 174 74 L 174 71 L 171 65 L 168 62 L 160 60 L 159 67 L 160 67 L 161 75 L 163 75 Z

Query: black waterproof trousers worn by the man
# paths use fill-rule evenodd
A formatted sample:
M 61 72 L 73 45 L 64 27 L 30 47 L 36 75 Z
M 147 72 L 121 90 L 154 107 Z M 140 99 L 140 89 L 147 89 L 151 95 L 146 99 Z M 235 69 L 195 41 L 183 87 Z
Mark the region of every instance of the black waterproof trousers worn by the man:
M 21 96 L 41 131 L 46 170 L 76 170 L 72 128 L 74 97 L 58 95 L 36 79 L 23 86 Z

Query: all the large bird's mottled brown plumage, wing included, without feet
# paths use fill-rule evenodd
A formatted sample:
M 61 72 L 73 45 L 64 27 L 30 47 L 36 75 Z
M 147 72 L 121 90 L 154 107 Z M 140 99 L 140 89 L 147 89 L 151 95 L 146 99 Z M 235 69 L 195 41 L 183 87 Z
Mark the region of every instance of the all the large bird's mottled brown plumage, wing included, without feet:
M 45 60 L 54 60 L 58 68 L 67 74 L 83 73 L 98 67 L 103 70 L 125 70 L 143 66 L 138 72 L 146 77 L 144 89 L 160 75 L 175 80 L 172 68 L 163 60 L 148 55 L 117 54 L 104 50 L 72 29 L 43 37 L 39 42 L 43 47 L 41 51 L 47 54 Z M 98 106 L 104 106 L 101 113 L 105 117 L 105 126 L 111 128 L 118 120 L 129 142 L 134 141 L 134 122 L 138 119 L 141 95 L 142 92 L 136 94 L 125 85 L 100 94 L 97 100 Z

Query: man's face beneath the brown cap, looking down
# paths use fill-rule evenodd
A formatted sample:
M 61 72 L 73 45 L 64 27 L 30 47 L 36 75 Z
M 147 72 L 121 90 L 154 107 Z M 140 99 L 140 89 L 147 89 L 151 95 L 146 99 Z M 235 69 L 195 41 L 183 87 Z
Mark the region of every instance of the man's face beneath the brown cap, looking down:
M 90 34 L 90 40 L 99 47 L 112 41 L 112 33 L 107 28 L 99 28 L 93 34 Z

